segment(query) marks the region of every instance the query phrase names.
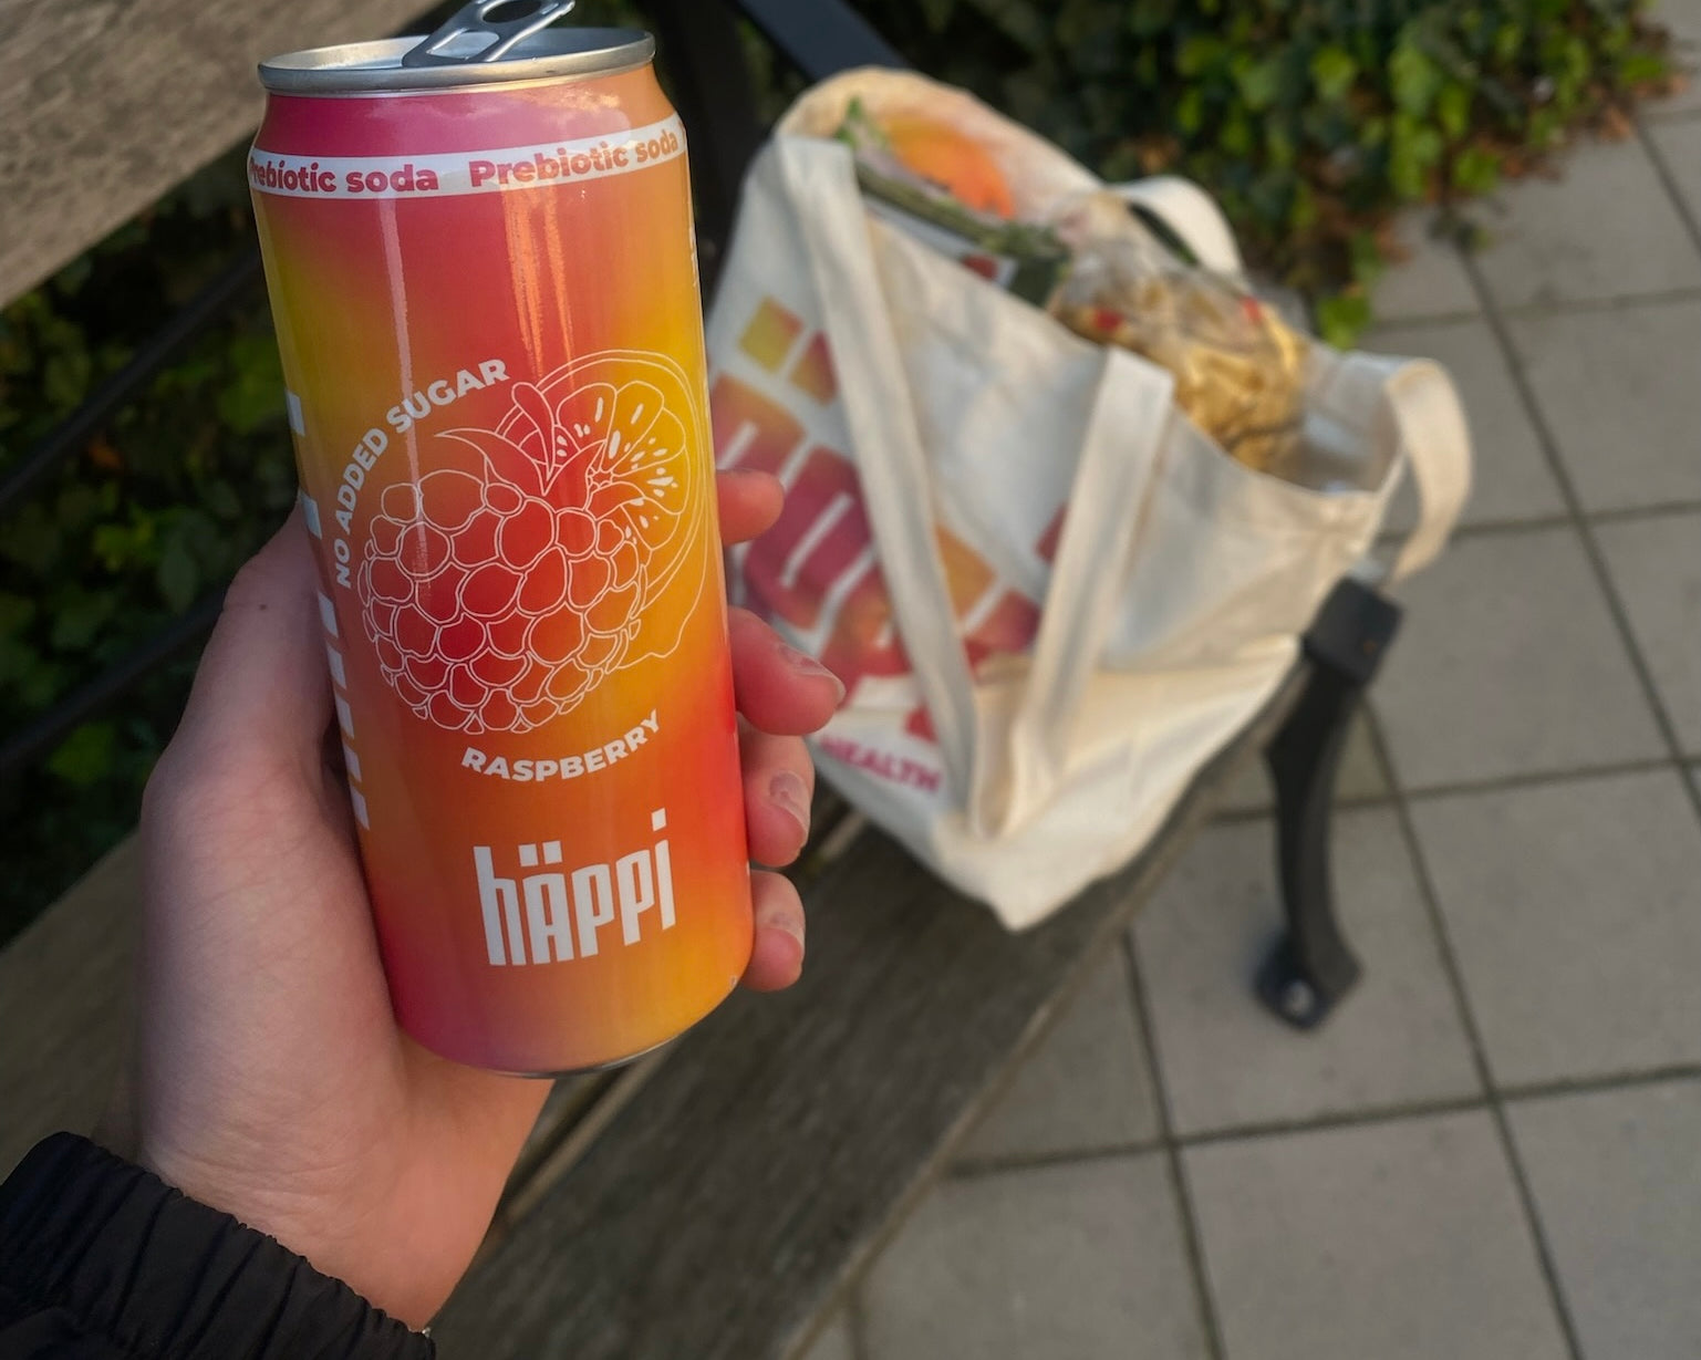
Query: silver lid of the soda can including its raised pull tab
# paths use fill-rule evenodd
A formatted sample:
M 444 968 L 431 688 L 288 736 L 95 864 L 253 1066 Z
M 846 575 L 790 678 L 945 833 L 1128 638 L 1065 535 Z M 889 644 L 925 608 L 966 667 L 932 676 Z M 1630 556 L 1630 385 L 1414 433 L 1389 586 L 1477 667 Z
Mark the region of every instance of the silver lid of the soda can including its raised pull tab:
M 524 19 L 485 20 L 503 10 L 475 0 L 425 39 L 386 37 L 284 53 L 260 63 L 267 90 L 301 95 L 373 90 L 446 90 L 549 76 L 612 75 L 648 65 L 655 39 L 638 29 L 543 27 L 570 3 L 527 7 Z

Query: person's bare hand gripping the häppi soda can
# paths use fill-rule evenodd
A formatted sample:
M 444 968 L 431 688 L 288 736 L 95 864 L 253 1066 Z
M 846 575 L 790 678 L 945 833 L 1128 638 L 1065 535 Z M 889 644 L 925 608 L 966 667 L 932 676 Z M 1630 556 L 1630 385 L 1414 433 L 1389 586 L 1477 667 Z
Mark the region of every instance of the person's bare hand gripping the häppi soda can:
M 718 481 L 723 541 L 777 517 L 772 478 Z M 548 1083 L 396 1028 L 332 763 L 315 590 L 296 515 L 231 583 L 148 782 L 138 1056 L 107 1141 L 420 1326 L 471 1261 Z M 789 864 L 813 789 L 799 734 L 842 687 L 742 610 L 731 648 L 750 853 Z M 803 904 L 771 872 L 752 898 L 745 986 L 789 986 Z

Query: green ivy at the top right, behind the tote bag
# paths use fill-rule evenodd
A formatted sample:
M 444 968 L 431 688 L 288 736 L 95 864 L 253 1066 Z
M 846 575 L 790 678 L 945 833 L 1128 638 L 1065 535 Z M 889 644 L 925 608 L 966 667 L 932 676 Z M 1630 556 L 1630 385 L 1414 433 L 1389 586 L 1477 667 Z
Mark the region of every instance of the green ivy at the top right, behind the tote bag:
M 1488 192 L 1670 75 L 1641 0 L 859 0 L 1109 178 L 1211 187 L 1351 340 L 1393 209 Z

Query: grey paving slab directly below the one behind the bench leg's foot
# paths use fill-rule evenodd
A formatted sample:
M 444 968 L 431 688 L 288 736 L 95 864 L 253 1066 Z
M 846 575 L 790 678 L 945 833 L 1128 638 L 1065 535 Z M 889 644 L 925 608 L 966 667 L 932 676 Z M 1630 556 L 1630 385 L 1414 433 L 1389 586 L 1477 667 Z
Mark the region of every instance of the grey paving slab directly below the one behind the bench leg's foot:
M 1228 1360 L 1563 1360 L 1487 1112 L 1189 1148 Z

